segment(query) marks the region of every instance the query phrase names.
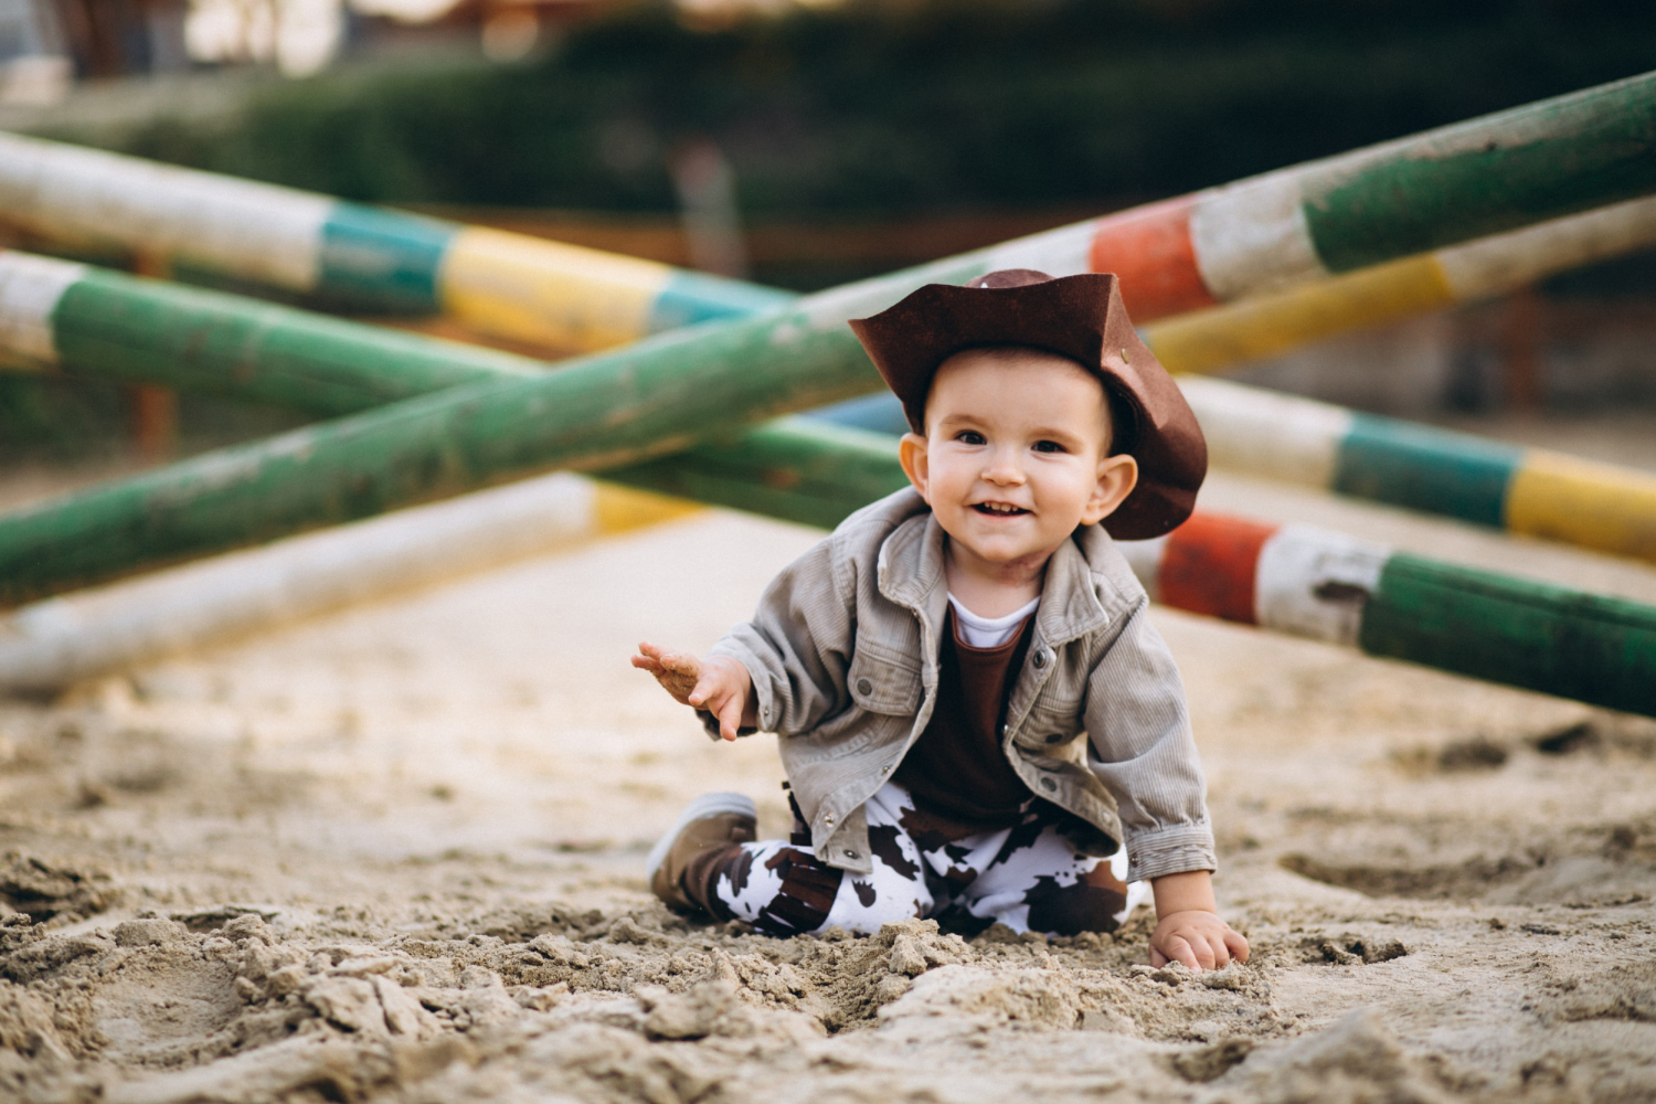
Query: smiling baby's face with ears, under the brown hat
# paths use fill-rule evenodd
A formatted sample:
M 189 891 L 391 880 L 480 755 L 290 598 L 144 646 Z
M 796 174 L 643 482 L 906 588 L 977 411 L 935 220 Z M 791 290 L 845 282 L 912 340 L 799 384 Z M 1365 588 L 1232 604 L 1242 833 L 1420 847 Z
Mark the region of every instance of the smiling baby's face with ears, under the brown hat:
M 1078 525 L 1121 505 L 1133 457 L 1110 457 L 1110 404 L 1080 364 L 1017 348 L 942 362 L 926 435 L 903 439 L 903 467 L 957 553 L 984 568 L 1052 554 Z

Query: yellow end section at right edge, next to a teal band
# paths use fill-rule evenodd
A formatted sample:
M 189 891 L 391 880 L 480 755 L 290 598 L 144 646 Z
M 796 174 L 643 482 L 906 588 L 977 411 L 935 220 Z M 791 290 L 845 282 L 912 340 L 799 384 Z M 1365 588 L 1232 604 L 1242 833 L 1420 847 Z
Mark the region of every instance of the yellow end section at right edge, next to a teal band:
M 1530 449 L 1505 520 L 1514 533 L 1656 561 L 1656 475 Z

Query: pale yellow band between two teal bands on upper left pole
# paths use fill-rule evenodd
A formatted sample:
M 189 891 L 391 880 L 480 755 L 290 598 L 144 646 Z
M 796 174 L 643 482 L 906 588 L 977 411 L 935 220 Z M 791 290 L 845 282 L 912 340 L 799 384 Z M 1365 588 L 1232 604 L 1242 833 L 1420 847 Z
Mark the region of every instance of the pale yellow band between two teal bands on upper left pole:
M 437 298 L 484 333 L 576 353 L 646 336 L 671 276 L 656 262 L 467 227 L 444 253 Z

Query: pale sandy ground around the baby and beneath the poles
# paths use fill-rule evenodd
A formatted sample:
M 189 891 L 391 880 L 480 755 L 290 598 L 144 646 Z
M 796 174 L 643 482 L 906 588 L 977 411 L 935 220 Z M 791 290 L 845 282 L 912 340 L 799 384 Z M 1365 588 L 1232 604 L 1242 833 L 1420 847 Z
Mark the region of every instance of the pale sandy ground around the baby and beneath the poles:
M 1308 492 L 1204 505 L 1656 601 Z M 782 776 L 628 652 L 705 647 L 816 536 L 709 511 L 0 703 L 0 1101 L 1656 1099 L 1656 723 L 1167 611 L 1247 967 L 1151 970 L 1144 915 L 671 917 L 656 834 L 714 788 L 780 831 Z

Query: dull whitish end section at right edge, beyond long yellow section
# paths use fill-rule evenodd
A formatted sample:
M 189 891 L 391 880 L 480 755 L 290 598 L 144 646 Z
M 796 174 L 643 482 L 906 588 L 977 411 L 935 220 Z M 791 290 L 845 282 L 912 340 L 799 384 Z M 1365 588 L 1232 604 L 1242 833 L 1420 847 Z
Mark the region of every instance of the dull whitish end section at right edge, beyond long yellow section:
M 1656 245 L 1656 195 L 1437 250 L 1456 300 L 1504 295 L 1542 276 Z

